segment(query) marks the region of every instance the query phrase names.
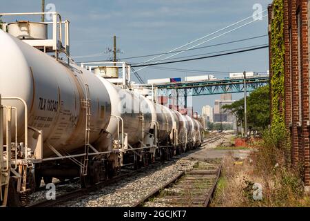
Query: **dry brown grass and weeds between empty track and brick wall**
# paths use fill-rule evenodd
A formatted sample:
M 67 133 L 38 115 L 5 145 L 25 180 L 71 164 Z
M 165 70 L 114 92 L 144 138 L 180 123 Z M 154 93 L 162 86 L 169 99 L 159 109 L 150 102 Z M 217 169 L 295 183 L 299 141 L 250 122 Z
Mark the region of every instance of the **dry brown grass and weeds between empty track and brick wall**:
M 256 144 L 254 149 L 242 163 L 232 153 L 225 157 L 211 206 L 310 206 L 300 170 L 291 169 L 287 151 L 267 142 Z M 254 183 L 262 185 L 262 200 L 253 198 Z

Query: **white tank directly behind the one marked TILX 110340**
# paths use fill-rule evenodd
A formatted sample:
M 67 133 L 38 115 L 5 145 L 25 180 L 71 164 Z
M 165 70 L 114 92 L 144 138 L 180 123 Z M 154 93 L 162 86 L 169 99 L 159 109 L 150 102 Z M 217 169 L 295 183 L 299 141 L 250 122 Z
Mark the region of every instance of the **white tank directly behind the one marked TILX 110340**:
M 124 133 L 127 133 L 128 143 L 131 146 L 143 141 L 152 125 L 154 107 L 147 101 L 146 97 L 133 92 L 132 90 L 122 89 L 114 86 L 103 77 L 98 77 L 107 88 L 107 93 L 111 98 L 111 113 L 114 116 L 123 118 Z M 117 119 L 111 117 L 107 132 L 117 136 Z M 121 126 L 121 124 L 120 124 Z M 106 140 L 106 139 L 105 139 Z

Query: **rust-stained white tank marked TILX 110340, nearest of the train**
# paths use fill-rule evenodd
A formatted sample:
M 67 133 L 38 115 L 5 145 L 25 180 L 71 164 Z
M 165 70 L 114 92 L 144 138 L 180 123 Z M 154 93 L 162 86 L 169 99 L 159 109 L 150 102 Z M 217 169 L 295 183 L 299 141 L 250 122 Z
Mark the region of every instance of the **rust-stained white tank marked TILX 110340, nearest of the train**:
M 28 106 L 28 125 L 43 131 L 43 157 L 79 151 L 85 144 L 87 86 L 90 98 L 90 142 L 94 142 L 110 120 L 110 97 L 105 85 L 93 73 L 68 66 L 0 30 L 0 94 L 21 97 Z M 105 81 L 105 80 L 103 80 Z M 19 141 L 23 138 L 23 105 L 3 101 L 18 109 Z M 33 137 L 29 133 L 29 139 Z M 32 140 L 29 140 L 30 144 Z M 33 147 L 29 145 L 29 147 Z

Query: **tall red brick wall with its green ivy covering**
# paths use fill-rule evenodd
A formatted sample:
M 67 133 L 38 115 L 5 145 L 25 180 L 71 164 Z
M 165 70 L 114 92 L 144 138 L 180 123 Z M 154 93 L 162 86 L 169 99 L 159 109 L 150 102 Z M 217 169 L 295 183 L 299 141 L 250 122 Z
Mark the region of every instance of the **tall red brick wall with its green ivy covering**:
M 309 1 L 274 0 L 268 9 L 271 133 L 310 191 Z

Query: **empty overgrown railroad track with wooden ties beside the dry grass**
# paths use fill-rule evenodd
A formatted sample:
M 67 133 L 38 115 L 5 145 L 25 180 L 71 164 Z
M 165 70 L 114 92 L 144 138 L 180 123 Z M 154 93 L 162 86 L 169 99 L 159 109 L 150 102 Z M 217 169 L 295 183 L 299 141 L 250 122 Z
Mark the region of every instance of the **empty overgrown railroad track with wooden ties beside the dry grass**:
M 203 163 L 199 162 L 198 164 Z M 220 177 L 221 164 L 199 166 L 169 180 L 133 206 L 207 207 Z

